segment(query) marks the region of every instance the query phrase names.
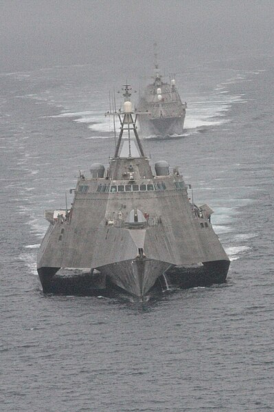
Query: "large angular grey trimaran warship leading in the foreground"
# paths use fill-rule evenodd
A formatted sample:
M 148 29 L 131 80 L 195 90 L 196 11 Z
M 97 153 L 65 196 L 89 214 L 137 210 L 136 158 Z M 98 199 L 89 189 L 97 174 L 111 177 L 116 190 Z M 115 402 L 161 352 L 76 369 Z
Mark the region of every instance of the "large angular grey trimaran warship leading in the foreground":
M 138 299 L 167 277 L 194 285 L 195 265 L 203 269 L 198 270 L 202 283 L 225 281 L 229 258 L 212 228 L 213 211 L 191 202 L 178 169 L 170 172 L 161 160 L 152 171 L 129 85 L 124 110 L 114 115 L 120 132 L 109 168 L 92 164 L 89 177 L 80 173 L 69 209 L 45 210 L 49 228 L 37 261 L 43 291 L 53 292 L 60 268 L 88 268 L 91 283 L 99 274 L 104 287 L 115 285 Z

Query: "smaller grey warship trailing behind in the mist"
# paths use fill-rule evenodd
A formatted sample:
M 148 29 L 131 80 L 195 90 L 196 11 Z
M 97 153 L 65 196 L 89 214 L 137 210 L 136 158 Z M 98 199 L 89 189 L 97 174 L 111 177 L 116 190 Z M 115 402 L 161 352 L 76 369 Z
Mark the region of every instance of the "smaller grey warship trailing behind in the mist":
M 181 135 L 185 122 L 187 103 L 182 103 L 175 85 L 175 78 L 170 83 L 164 82 L 157 63 L 155 52 L 155 74 L 153 83 L 147 85 L 138 102 L 141 112 L 150 116 L 139 116 L 139 125 L 144 136 L 157 135 L 161 138 Z

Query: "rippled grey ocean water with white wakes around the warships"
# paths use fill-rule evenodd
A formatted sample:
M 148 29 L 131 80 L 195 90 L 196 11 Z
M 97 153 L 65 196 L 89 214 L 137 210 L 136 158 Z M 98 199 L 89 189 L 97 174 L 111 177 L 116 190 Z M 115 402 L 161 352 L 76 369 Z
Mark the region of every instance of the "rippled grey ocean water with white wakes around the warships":
M 144 147 L 214 209 L 231 267 L 223 285 L 143 304 L 46 296 L 36 273 L 43 210 L 113 154 L 104 112 L 124 79 L 85 65 L 0 74 L 0 411 L 273 411 L 273 63 L 177 72 L 185 133 Z

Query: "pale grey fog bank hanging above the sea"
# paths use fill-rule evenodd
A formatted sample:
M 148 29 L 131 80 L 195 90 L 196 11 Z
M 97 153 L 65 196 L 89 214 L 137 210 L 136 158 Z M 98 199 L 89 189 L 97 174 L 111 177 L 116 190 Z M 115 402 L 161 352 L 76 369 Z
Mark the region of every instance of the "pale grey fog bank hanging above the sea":
M 148 66 L 155 41 L 171 69 L 197 56 L 273 54 L 272 0 L 1 0 L 0 8 L 1 72 Z

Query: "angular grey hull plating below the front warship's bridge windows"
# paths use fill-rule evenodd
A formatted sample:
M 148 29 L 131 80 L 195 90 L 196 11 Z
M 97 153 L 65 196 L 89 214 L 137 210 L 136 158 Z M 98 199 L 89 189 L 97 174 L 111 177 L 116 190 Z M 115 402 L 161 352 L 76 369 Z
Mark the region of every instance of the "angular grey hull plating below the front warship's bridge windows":
M 130 162 L 134 166 L 135 160 Z M 90 191 L 76 192 L 71 218 L 50 224 L 43 239 L 38 252 L 42 285 L 58 268 L 90 268 L 130 294 L 144 296 L 172 266 L 218 261 L 229 265 L 212 225 L 194 215 L 187 191 L 174 188 L 172 175 L 146 180 L 153 181 L 165 182 L 165 191 L 98 193 L 98 180 L 85 180 Z M 139 226 L 127 224 L 133 208 L 148 220 Z

